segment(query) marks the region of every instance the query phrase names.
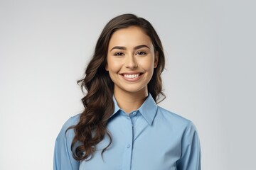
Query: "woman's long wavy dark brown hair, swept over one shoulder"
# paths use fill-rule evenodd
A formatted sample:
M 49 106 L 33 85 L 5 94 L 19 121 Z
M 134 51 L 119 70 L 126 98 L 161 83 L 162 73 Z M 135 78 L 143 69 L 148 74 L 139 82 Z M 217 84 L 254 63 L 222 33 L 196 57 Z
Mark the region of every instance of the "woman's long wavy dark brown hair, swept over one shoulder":
M 164 71 L 164 52 L 161 40 L 149 21 L 133 14 L 123 14 L 112 18 L 102 30 L 97 40 L 95 52 L 85 70 L 85 77 L 78 81 L 82 91 L 87 94 L 82 98 L 85 110 L 80 115 L 80 120 L 73 128 L 75 137 L 71 145 L 73 157 L 76 160 L 89 160 L 95 152 L 96 145 L 103 140 L 105 135 L 110 138 L 110 143 L 102 150 L 105 152 L 112 143 L 110 132 L 107 131 L 107 121 L 114 112 L 114 84 L 109 73 L 105 70 L 107 64 L 107 50 L 110 38 L 116 30 L 138 26 L 151 38 L 154 52 L 159 55 L 159 62 L 154 69 L 154 74 L 149 81 L 148 91 L 154 101 L 162 101 L 165 96 L 162 92 L 161 72 Z

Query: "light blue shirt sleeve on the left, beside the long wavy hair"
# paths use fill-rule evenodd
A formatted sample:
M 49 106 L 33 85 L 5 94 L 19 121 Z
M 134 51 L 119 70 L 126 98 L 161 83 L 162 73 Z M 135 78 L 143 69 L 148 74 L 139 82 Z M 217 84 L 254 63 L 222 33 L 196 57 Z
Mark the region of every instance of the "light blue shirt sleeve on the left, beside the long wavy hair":
M 71 144 L 75 135 L 73 129 L 66 130 L 74 125 L 74 118 L 70 118 L 60 130 L 55 141 L 53 170 L 78 170 L 80 162 L 73 158 Z

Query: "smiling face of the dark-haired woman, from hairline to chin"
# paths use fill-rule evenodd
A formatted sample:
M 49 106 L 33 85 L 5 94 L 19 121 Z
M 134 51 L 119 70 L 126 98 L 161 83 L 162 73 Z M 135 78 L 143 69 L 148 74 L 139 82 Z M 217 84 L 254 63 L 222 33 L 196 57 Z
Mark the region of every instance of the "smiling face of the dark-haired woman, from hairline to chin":
M 158 56 L 151 39 L 137 27 L 119 29 L 112 35 L 106 70 L 114 82 L 114 94 L 146 93 Z

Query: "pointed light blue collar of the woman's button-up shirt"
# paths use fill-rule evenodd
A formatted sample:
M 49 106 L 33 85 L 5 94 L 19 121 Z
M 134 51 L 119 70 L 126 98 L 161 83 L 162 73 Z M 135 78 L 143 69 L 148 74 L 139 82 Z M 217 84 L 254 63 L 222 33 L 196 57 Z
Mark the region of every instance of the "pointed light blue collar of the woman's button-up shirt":
M 110 117 L 116 114 L 119 110 L 122 110 L 121 108 L 119 108 L 114 96 L 113 96 L 113 101 L 114 101 L 114 113 Z M 146 101 L 142 103 L 142 106 L 139 107 L 138 111 L 139 113 L 142 114 L 146 122 L 149 123 L 149 125 L 152 125 L 154 117 L 156 115 L 157 105 L 156 105 L 156 102 L 154 101 L 154 98 L 151 96 L 151 94 L 149 94 L 149 96 L 146 98 Z

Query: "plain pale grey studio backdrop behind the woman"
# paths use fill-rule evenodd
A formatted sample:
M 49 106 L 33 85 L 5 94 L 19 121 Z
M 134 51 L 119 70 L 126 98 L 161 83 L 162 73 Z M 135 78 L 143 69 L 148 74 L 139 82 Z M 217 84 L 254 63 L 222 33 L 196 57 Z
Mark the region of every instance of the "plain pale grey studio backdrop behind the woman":
M 82 111 L 76 81 L 102 28 L 122 13 L 159 33 L 160 106 L 195 123 L 203 169 L 255 169 L 255 8 L 247 0 L 1 0 L 0 169 L 53 169 L 55 138 Z

